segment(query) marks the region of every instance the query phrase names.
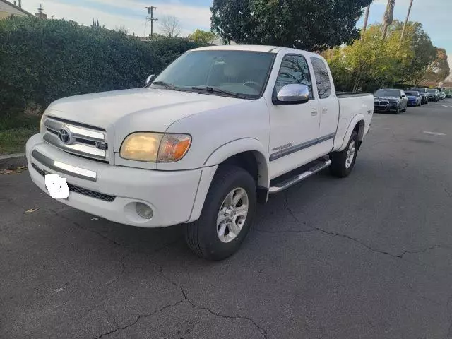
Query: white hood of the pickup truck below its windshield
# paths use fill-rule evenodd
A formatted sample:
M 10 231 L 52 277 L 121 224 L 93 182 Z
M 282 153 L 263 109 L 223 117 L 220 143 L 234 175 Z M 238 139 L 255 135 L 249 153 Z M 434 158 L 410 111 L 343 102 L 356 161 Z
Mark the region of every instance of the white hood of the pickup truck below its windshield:
M 52 102 L 46 114 L 102 129 L 130 126 L 131 131 L 165 132 L 174 121 L 191 114 L 244 101 L 157 88 L 136 88 L 76 95 Z

